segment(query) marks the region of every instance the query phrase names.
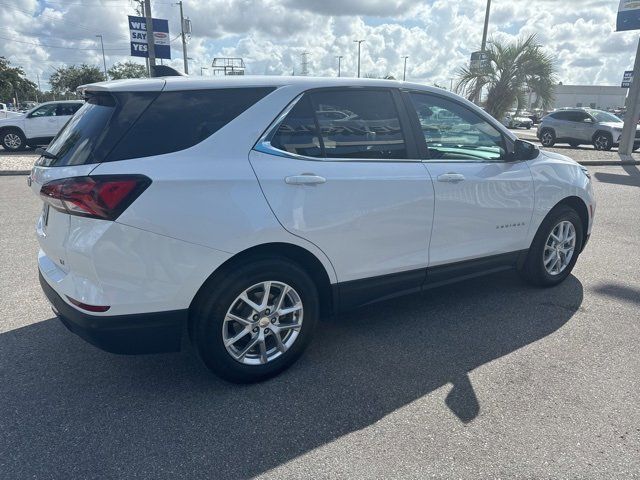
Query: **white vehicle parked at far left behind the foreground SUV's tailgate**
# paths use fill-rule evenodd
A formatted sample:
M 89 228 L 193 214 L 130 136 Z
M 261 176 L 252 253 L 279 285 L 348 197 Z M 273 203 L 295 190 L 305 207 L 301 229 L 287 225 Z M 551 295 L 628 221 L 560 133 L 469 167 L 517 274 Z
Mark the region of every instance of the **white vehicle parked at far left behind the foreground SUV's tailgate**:
M 48 144 L 82 106 L 81 100 L 41 103 L 26 113 L 0 120 L 0 143 L 5 150 Z

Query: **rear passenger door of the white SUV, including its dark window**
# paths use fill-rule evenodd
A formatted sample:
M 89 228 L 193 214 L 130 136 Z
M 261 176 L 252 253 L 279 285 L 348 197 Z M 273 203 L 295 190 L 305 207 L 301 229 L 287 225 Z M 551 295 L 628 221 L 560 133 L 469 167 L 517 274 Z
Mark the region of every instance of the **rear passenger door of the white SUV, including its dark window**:
M 340 282 L 394 274 L 390 290 L 410 291 L 428 263 L 433 187 L 399 98 L 307 93 L 250 159 L 280 223 L 323 250 Z

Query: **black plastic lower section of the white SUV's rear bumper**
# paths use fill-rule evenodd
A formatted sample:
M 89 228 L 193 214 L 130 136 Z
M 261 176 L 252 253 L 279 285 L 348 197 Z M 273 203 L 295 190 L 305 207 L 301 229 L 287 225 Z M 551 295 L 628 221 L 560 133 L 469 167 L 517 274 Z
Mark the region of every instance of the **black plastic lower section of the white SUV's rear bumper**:
M 148 314 L 89 315 L 67 304 L 40 273 L 55 314 L 71 332 L 101 350 L 126 355 L 180 350 L 188 310 Z

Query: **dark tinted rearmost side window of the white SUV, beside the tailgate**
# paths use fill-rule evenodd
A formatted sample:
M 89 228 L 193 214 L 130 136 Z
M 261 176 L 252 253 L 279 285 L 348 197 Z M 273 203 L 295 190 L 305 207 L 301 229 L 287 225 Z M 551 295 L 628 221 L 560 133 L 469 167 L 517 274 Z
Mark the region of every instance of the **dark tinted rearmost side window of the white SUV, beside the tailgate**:
M 163 92 L 124 135 L 107 161 L 177 152 L 200 143 L 274 88 Z

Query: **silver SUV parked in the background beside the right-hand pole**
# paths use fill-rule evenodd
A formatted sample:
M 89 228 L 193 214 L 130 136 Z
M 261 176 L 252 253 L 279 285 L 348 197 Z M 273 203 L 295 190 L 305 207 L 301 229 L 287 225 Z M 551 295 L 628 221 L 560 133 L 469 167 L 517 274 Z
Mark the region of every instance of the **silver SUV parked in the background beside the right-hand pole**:
M 611 150 L 618 146 L 623 121 L 614 114 L 588 108 L 551 112 L 538 126 L 537 136 L 544 147 L 568 143 L 576 148 L 591 144 L 596 150 Z M 640 147 L 640 131 L 636 130 L 633 149 Z

